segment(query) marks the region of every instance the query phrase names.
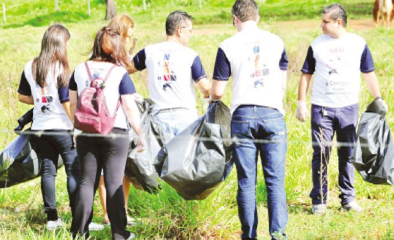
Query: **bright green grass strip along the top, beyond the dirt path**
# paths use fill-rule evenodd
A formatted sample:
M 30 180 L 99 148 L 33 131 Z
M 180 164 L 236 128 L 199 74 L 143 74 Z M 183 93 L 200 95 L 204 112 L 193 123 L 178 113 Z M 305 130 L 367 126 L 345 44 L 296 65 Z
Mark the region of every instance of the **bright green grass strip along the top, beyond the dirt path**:
M 51 22 L 76 23 L 104 19 L 105 1 L 91 0 L 91 16 L 87 15 L 87 0 L 59 0 L 59 11 L 55 11 L 54 0 L 3 0 L 7 8 L 7 22 L 0 21 L 0 27 L 15 28 L 22 26 L 47 26 Z M 259 1 L 256 1 L 257 4 Z M 260 16 L 264 20 L 316 19 L 321 9 L 331 3 L 343 4 L 349 17 L 371 17 L 373 0 L 267 0 L 261 1 Z M 163 22 L 169 12 L 183 10 L 194 17 L 195 24 L 230 23 L 233 1 L 202 0 L 150 0 L 146 1 L 146 11 L 142 0 L 116 0 L 117 12 L 126 12 L 139 22 Z M 165 9 L 165 11 L 163 11 Z

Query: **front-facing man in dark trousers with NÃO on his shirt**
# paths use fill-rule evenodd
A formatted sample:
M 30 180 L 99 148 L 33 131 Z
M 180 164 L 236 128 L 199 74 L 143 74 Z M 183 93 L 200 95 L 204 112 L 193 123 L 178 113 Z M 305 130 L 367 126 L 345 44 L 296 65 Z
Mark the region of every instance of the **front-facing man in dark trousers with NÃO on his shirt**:
M 321 157 L 321 140 L 332 141 L 334 133 L 339 145 L 345 145 L 338 147 L 338 186 L 342 208 L 363 210 L 355 200 L 355 169 L 351 163 L 358 121 L 360 71 L 374 98 L 385 105 L 368 46 L 360 36 L 346 32 L 346 23 L 346 11 L 341 5 L 332 4 L 323 9 L 323 34 L 311 43 L 301 69 L 296 116 L 302 122 L 307 118 L 305 97 L 314 75 L 311 110 L 313 189 L 310 197 L 315 214 L 322 214 L 326 209 L 327 163 L 331 150 L 325 146 Z

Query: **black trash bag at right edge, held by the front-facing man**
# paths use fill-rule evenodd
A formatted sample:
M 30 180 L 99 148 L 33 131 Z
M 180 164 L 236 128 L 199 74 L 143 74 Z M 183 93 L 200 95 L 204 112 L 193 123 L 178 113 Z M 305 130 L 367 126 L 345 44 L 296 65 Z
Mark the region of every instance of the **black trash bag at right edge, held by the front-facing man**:
M 365 181 L 394 185 L 393 160 L 394 142 L 385 110 L 374 101 L 361 115 L 352 162 Z

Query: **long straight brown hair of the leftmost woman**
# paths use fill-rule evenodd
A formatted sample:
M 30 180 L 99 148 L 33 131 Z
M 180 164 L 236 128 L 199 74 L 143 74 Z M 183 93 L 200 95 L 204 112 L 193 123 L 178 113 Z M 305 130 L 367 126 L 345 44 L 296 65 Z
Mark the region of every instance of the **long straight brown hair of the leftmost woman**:
M 67 60 L 67 42 L 70 32 L 63 25 L 52 25 L 45 31 L 41 41 L 41 52 L 33 60 L 33 76 L 40 87 L 45 86 L 45 79 L 50 70 L 55 74 L 56 62 L 59 62 L 62 73 L 57 77 L 57 86 L 67 86 L 70 81 L 69 62 Z

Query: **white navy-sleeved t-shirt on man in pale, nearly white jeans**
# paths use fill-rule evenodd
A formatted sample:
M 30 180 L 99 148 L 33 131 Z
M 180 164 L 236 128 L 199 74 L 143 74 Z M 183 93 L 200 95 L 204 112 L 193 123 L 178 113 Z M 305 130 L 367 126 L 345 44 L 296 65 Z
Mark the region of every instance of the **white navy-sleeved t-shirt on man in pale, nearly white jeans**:
M 146 46 L 133 59 L 138 70 L 148 70 L 149 98 L 157 109 L 195 110 L 194 84 L 206 77 L 200 57 L 180 43 L 165 41 Z

